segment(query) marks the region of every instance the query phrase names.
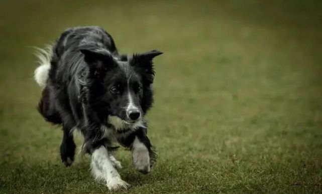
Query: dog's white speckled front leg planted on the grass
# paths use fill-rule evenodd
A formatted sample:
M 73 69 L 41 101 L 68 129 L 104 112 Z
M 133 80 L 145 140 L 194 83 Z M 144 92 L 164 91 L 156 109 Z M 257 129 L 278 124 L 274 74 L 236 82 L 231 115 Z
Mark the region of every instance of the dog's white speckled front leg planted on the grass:
M 106 181 L 110 190 L 127 189 L 130 185 L 121 179 L 120 174 L 115 169 L 110 160 L 108 150 L 100 146 L 93 150 L 91 154 L 91 170 L 95 178 Z

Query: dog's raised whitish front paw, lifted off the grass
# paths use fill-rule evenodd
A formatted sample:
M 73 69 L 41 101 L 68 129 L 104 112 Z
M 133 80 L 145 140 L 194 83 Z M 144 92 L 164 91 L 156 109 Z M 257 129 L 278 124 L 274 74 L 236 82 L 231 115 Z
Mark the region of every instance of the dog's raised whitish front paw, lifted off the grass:
M 136 170 L 143 174 L 147 174 L 151 171 L 149 152 L 140 150 L 133 152 L 133 164 Z

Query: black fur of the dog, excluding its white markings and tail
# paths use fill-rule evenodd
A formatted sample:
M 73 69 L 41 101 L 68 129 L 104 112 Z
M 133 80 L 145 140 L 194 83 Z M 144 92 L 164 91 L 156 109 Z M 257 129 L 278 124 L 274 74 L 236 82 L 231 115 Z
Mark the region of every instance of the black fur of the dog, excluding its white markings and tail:
M 49 78 L 38 110 L 46 121 L 62 125 L 60 152 L 65 165 L 71 164 L 68 159 L 74 159 L 75 128 L 84 136 L 85 152 L 91 154 L 101 145 L 113 149 L 102 130 L 102 126 L 114 127 L 109 116 L 129 121 L 128 128 L 115 129 L 120 134 L 117 140 L 131 148 L 137 136 L 148 148 L 153 163 L 156 154 L 146 126 L 132 127 L 124 107 L 131 95 L 133 104 L 145 116 L 153 103 L 152 59 L 160 54 L 153 50 L 130 57 L 119 55 L 111 35 L 99 27 L 72 28 L 61 34 L 53 48 Z

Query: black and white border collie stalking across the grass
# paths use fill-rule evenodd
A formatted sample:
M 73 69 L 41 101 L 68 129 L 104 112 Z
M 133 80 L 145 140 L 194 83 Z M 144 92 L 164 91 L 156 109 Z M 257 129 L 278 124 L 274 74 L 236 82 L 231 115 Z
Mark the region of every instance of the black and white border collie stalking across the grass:
M 153 102 L 152 60 L 161 54 L 119 55 L 111 35 L 99 27 L 67 29 L 53 47 L 38 49 L 35 79 L 44 87 L 39 112 L 62 125 L 60 155 L 66 166 L 74 160 L 72 131 L 79 130 L 94 177 L 110 190 L 129 187 L 116 170 L 122 166 L 113 156 L 114 141 L 132 150 L 137 170 L 150 172 L 156 154 L 145 115 Z

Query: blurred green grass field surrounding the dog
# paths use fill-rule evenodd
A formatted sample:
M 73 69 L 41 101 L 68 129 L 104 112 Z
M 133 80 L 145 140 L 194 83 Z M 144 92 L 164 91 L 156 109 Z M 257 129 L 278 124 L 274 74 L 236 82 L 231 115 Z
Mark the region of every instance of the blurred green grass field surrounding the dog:
M 117 153 L 129 193 L 322 192 L 321 3 L 66 2 L 0 3 L 0 193 L 109 192 L 88 156 L 62 165 L 62 132 L 35 108 L 29 46 L 85 25 L 121 53 L 164 52 L 148 114 L 159 160 L 142 175 Z

